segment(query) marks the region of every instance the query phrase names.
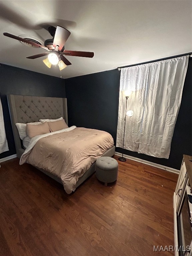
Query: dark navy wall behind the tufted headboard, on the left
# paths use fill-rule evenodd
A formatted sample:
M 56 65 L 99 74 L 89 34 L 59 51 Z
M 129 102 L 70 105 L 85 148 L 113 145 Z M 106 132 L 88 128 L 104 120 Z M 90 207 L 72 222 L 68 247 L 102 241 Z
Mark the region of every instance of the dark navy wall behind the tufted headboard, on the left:
M 9 151 L 1 153 L 0 159 L 16 154 L 7 103 L 8 94 L 65 97 L 65 80 L 8 65 L 0 65 L 0 97 L 9 146 Z

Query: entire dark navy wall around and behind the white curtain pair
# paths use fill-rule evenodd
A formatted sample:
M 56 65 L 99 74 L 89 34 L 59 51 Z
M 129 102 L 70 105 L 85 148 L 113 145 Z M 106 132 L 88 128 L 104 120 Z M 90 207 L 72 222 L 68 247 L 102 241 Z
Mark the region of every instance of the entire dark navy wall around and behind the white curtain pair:
M 124 154 L 180 169 L 183 154 L 192 155 L 192 65 L 189 58 L 181 107 L 179 110 L 169 159 L 151 157 L 124 150 Z M 65 79 L 69 125 L 109 132 L 116 143 L 120 72 L 110 70 Z M 116 148 L 122 153 L 121 148 Z

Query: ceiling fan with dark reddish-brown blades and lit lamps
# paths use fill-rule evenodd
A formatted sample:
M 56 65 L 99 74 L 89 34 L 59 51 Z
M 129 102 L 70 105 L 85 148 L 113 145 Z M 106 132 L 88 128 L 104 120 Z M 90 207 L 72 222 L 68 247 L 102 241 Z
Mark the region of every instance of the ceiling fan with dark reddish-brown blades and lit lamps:
M 59 69 L 62 70 L 66 66 L 71 65 L 71 62 L 68 61 L 63 55 L 88 57 L 88 58 L 92 58 L 94 56 L 94 52 L 65 50 L 64 44 L 71 34 L 71 32 L 69 32 L 67 29 L 60 26 L 57 26 L 57 28 L 50 26 L 48 28 L 48 31 L 53 38 L 45 40 L 44 46 L 38 42 L 34 42 L 33 39 L 29 39 L 29 38 L 25 39 L 9 33 L 3 33 L 3 35 L 19 40 L 20 42 L 23 42 L 25 44 L 29 44 L 29 45 L 47 50 L 48 52 L 29 56 L 27 57 L 27 59 L 36 59 L 36 58 L 48 55 L 48 58 L 44 59 L 43 62 L 49 68 L 51 67 L 51 65 L 58 64 Z

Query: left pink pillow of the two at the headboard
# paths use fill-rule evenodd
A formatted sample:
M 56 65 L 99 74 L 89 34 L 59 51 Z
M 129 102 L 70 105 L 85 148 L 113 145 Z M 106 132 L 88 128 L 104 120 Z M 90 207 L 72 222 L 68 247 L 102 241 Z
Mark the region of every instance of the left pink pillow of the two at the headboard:
M 39 125 L 32 125 L 32 124 L 27 124 L 26 126 L 26 133 L 29 136 L 29 138 L 33 138 L 37 135 L 49 133 L 49 125 L 47 122 Z

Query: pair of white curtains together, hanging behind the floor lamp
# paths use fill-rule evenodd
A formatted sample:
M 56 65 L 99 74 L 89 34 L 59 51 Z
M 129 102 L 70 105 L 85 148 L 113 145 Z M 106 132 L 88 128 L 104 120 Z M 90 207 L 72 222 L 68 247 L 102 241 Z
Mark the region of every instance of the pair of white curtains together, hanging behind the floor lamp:
M 188 57 L 121 69 L 117 147 L 123 145 L 126 99 L 122 91 L 132 90 L 127 110 L 133 110 L 134 114 L 126 118 L 124 148 L 169 157 Z

